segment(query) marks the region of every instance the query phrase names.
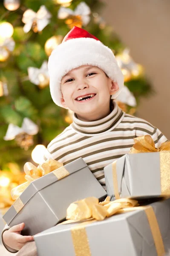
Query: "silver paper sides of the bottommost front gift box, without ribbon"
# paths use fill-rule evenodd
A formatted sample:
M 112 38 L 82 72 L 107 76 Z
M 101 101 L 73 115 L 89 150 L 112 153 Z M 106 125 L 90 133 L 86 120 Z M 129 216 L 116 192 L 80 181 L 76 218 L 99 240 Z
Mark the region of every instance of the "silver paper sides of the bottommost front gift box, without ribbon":
M 170 248 L 170 199 L 151 204 L 165 251 Z M 75 237 L 77 223 L 60 224 L 37 234 L 38 256 L 157 256 L 150 225 L 144 210 L 135 210 L 85 225 L 86 237 Z M 81 232 L 80 232 L 81 234 Z M 74 240 L 74 242 L 73 242 Z M 73 245 L 74 244 L 74 245 Z M 75 251 L 78 249 L 78 254 Z

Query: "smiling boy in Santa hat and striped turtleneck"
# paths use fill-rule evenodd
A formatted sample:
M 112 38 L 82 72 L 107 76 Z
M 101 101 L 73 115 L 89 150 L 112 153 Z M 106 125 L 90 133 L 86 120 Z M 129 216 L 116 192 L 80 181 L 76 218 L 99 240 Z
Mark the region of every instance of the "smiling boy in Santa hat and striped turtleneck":
M 84 29 L 74 27 L 66 35 L 49 57 L 48 68 L 53 101 L 74 116 L 49 143 L 45 160 L 52 156 L 65 165 L 82 157 L 105 188 L 104 167 L 128 154 L 135 137 L 150 134 L 157 148 L 167 141 L 158 128 L 124 113 L 112 101 L 124 86 L 123 74 L 111 49 Z M 8 250 L 16 252 L 33 240 L 20 235 L 23 227 L 6 227 L 3 242 Z

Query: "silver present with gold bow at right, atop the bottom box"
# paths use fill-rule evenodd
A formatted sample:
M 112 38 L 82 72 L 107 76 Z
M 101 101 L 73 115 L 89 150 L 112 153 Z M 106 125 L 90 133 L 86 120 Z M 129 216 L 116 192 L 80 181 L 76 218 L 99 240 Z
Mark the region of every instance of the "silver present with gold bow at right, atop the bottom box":
M 169 150 L 170 142 L 155 148 L 150 135 L 135 138 L 130 154 L 104 168 L 107 194 L 113 200 L 170 196 Z

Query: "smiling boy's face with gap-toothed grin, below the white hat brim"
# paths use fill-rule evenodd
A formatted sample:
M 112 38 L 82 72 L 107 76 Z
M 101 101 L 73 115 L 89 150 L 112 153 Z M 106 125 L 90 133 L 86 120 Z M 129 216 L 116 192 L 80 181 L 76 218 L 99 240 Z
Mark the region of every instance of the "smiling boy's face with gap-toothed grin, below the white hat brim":
M 109 114 L 110 95 L 117 91 L 118 84 L 109 79 L 103 70 L 84 65 L 63 76 L 61 103 L 81 120 L 98 120 Z

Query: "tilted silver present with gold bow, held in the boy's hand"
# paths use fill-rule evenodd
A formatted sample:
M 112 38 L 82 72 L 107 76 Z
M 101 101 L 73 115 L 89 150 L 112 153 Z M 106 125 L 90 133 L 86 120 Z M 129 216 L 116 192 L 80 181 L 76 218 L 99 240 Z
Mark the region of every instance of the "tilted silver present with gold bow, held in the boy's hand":
M 26 163 L 24 171 L 28 181 L 12 190 L 12 197 L 17 199 L 3 216 L 10 227 L 24 222 L 22 235 L 35 235 L 55 226 L 66 217 L 72 201 L 107 195 L 82 158 L 65 166 L 55 160 L 47 160 L 38 168 Z

